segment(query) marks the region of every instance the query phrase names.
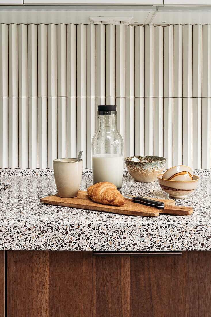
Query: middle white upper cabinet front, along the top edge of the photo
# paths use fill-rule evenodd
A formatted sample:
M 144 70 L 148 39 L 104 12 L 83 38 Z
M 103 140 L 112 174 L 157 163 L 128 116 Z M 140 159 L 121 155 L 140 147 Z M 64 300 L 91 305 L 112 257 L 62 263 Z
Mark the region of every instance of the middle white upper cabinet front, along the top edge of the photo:
M 0 0 L 2 1 L 2 0 Z M 4 0 L 5 1 L 5 0 Z M 63 4 L 139 4 L 139 5 L 162 5 L 162 0 L 24 0 L 24 4 L 51 4 L 51 5 L 63 5 Z

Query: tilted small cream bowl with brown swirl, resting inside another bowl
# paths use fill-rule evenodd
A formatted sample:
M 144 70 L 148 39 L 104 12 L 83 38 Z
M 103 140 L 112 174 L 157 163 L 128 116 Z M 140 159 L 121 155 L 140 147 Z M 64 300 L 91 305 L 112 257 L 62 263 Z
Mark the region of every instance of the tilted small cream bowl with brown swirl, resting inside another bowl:
M 162 178 L 181 181 L 193 180 L 193 171 L 188 166 L 177 165 L 165 171 Z

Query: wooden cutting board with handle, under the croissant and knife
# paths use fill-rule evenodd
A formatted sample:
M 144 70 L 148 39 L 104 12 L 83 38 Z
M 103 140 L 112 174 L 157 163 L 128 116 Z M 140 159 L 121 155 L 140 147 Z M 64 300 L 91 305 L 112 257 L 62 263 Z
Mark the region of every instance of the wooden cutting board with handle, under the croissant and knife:
M 151 198 L 154 199 L 154 198 Z M 125 198 L 123 206 L 110 206 L 95 203 L 88 195 L 87 191 L 79 191 L 78 196 L 74 198 L 61 198 L 59 195 L 48 196 L 42 198 L 42 203 L 64 206 L 79 209 L 97 210 L 112 212 L 114 214 L 129 215 L 129 216 L 158 216 L 159 213 L 167 213 L 171 215 L 190 215 L 193 212 L 191 207 L 177 207 L 175 201 L 172 199 L 154 199 L 165 204 L 164 209 L 157 209 L 153 207 L 144 206 L 142 204 L 133 203 L 130 199 Z

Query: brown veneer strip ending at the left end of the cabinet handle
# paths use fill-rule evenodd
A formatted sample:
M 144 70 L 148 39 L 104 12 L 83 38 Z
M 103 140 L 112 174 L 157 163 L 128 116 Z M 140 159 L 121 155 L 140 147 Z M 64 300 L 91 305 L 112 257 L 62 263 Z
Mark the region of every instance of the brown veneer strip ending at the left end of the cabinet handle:
M 92 252 L 53 251 L 49 261 L 49 316 L 95 316 Z

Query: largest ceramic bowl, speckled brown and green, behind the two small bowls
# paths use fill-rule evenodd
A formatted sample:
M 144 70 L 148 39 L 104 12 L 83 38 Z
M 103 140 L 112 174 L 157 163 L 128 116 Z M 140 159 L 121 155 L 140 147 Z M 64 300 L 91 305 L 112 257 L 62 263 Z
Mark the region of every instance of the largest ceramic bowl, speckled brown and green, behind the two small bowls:
M 163 172 L 166 159 L 160 156 L 129 156 L 125 158 L 125 164 L 137 182 L 155 182 L 157 175 Z

